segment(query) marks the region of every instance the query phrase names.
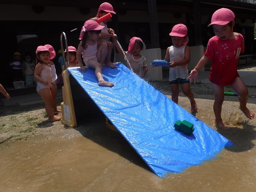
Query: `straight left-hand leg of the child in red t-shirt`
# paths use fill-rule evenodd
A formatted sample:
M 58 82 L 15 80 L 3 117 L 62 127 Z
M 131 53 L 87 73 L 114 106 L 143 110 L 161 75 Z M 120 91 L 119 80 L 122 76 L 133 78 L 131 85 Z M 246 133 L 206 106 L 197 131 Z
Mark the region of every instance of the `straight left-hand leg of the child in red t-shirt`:
M 219 128 L 222 129 L 228 129 L 229 127 L 225 126 L 222 118 L 221 118 L 221 110 L 222 110 L 222 104 L 224 101 L 224 86 L 223 85 L 216 85 L 214 83 L 211 82 L 212 85 L 212 89 L 214 92 L 214 97 L 215 97 L 215 101 L 213 104 L 213 111 L 215 114 L 215 122 L 216 125 Z

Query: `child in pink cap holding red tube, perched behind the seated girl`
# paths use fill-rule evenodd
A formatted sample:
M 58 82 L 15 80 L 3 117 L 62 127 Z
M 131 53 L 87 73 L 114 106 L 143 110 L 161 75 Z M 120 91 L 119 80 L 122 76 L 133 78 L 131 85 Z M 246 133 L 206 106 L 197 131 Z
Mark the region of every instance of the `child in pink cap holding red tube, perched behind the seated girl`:
M 101 18 L 102 16 L 107 15 L 108 13 L 116 14 L 116 12 L 114 12 L 113 6 L 110 3 L 104 2 L 99 6 L 99 10 L 96 17 L 91 18 L 91 20 L 98 21 L 97 20 L 98 18 Z M 104 28 L 101 30 L 101 33 L 99 35 L 99 41 L 106 43 L 108 46 L 108 54 L 107 54 L 107 60 L 105 65 L 111 68 L 116 68 L 116 66 L 110 61 L 111 53 L 114 46 L 113 46 L 113 43 L 110 42 L 109 40 L 110 40 L 110 37 L 112 37 L 113 40 L 114 38 L 117 38 L 116 34 L 114 34 L 114 30 L 107 27 L 107 22 L 110 19 L 111 18 L 100 23 L 100 25 L 104 26 Z

